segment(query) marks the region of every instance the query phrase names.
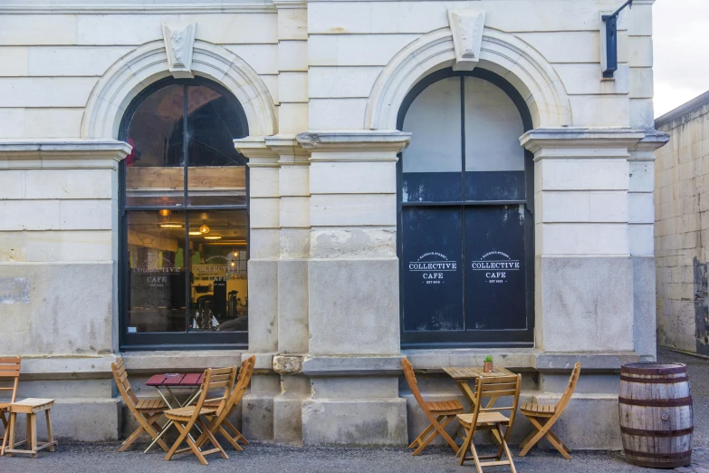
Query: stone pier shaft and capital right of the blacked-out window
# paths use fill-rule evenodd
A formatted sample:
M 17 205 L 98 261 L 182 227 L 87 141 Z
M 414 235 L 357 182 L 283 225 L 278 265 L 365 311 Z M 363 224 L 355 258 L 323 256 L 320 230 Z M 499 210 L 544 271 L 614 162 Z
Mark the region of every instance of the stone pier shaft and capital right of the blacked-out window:
M 535 338 L 544 352 L 634 351 L 628 147 L 645 132 L 538 129 Z

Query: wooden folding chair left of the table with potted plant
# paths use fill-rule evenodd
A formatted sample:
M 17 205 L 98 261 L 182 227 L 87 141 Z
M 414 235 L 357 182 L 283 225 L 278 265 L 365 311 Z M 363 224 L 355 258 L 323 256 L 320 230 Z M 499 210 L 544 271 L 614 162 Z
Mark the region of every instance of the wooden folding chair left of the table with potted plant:
M 414 367 L 408 362 L 406 358 L 401 359 L 401 364 L 404 367 L 404 376 L 407 378 L 408 387 L 414 394 L 414 398 L 418 402 L 418 406 L 426 414 L 426 418 L 430 422 L 428 427 L 421 432 L 411 445 L 408 446 L 409 449 L 414 450 L 414 455 L 421 453 L 423 449 L 426 449 L 426 445 L 431 443 L 433 439 L 437 436 L 443 437 L 444 440 L 451 446 L 453 451 L 458 451 L 458 446 L 455 444 L 455 440 L 448 435 L 446 432 L 446 427 L 452 420 L 455 419 L 455 415 L 463 412 L 463 405 L 457 400 L 451 401 L 424 401 L 423 396 L 421 396 L 421 391 L 418 391 L 418 383 L 416 381 L 416 375 L 414 374 Z

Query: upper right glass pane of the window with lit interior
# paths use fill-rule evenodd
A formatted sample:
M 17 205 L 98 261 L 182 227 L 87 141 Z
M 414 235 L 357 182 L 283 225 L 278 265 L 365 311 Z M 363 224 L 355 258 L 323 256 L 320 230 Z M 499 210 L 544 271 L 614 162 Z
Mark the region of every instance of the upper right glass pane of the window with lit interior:
M 242 111 L 199 85 L 187 87 L 187 113 L 189 205 L 245 205 L 246 159 L 234 148 L 248 134 Z

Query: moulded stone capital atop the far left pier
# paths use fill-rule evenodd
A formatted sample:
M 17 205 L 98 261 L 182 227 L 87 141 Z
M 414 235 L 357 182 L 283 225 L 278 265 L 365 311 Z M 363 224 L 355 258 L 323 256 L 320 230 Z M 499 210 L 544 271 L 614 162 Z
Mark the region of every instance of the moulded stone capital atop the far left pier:
M 0 140 L 0 169 L 115 169 L 130 150 L 119 140 Z

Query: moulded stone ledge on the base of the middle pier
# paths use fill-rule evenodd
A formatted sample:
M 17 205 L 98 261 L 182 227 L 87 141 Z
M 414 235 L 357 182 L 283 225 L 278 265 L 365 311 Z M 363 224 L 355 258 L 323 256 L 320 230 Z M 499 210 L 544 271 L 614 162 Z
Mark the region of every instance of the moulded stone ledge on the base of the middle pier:
M 398 376 L 402 372 L 400 356 L 306 356 L 302 362 L 307 376 Z

